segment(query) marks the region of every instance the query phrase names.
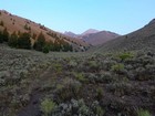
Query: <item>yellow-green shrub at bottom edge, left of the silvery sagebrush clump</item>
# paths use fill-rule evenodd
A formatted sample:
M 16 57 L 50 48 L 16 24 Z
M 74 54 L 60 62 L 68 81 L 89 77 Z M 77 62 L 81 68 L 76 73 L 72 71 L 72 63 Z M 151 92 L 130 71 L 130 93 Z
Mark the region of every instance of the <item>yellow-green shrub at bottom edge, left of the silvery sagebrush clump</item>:
M 45 98 L 41 102 L 41 110 L 44 113 L 44 116 L 50 116 L 55 107 L 56 104 L 49 98 Z

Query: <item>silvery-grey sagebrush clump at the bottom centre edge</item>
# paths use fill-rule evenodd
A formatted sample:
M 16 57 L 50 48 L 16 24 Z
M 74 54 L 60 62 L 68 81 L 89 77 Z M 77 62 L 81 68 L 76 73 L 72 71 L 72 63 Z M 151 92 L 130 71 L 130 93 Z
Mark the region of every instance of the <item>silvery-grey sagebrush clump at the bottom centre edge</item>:
M 59 104 L 51 116 L 104 116 L 105 110 L 95 101 L 87 105 L 83 98 Z

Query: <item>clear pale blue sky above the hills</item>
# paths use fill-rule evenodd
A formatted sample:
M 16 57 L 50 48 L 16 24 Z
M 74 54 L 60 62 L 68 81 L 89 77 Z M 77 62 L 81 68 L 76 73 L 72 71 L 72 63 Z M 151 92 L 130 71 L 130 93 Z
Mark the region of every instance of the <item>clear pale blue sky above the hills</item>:
M 155 18 L 155 0 L 1 0 L 0 9 L 52 30 L 126 34 Z

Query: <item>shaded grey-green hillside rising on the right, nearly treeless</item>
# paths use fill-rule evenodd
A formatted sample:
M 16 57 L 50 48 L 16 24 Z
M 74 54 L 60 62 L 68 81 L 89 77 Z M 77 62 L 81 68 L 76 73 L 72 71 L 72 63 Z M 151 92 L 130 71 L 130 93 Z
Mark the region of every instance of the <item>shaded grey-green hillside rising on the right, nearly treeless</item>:
M 144 28 L 130 34 L 106 42 L 100 52 L 108 51 L 155 50 L 155 19 Z

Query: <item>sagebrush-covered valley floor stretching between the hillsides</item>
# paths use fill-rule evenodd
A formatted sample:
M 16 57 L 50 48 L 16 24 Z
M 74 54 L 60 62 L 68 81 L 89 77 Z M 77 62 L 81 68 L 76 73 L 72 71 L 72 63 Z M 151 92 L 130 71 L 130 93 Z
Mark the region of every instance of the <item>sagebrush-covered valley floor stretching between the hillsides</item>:
M 0 116 L 154 116 L 155 53 L 0 46 Z

